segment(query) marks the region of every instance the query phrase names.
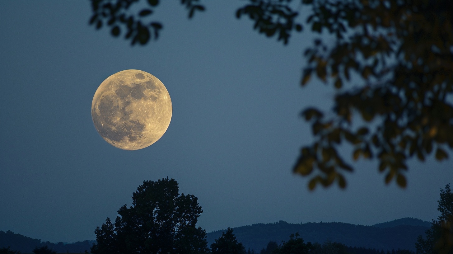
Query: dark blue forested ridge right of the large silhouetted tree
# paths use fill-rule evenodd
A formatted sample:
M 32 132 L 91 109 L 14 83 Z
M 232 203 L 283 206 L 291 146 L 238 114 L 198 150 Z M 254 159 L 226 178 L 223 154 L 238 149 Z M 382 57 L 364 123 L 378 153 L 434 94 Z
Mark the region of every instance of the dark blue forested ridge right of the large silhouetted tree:
M 417 237 L 420 234 L 424 235 L 427 229 L 429 227 L 408 224 L 379 228 L 341 222 L 290 224 L 280 220 L 276 223 L 241 226 L 233 230 L 238 241 L 244 244 L 246 249 L 254 249 L 256 252 L 265 247 L 269 241 L 275 241 L 278 244 L 281 241 L 287 241 L 289 235 L 295 232 L 299 232 L 304 242 L 324 243 L 330 240 L 352 247 L 415 250 Z M 208 243 L 214 242 L 214 239 L 221 236 L 223 231 L 208 233 Z

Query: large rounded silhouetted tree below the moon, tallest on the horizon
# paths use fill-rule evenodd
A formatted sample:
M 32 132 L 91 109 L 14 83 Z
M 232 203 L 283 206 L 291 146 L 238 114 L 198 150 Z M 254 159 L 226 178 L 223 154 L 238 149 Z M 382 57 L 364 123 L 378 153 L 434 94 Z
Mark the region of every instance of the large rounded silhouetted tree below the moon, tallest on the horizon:
M 132 205 L 118 210 L 115 224 L 95 230 L 93 254 L 208 252 L 206 231 L 196 227 L 202 213 L 194 195 L 179 194 L 178 183 L 164 178 L 144 181 L 132 195 Z

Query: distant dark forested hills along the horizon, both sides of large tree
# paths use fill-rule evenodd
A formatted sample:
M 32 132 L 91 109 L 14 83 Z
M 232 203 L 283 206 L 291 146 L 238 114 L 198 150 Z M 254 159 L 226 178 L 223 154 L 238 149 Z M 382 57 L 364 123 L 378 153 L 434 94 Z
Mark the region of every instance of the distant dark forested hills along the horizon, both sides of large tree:
M 290 234 L 299 232 L 305 243 L 337 242 L 347 247 L 348 254 L 414 254 L 415 241 L 429 229 L 429 222 L 413 218 L 403 218 L 372 226 L 353 225 L 341 222 L 290 224 L 282 220 L 269 224 L 253 224 L 233 228 L 239 242 L 250 253 L 260 253 L 270 241 L 281 244 Z M 219 238 L 225 230 L 207 234 L 208 245 Z M 11 231 L 0 231 L 0 248 L 10 246 L 23 254 L 32 253 L 35 247 L 48 246 L 58 253 L 88 252 L 95 243 L 85 240 L 71 244 L 42 242 Z M 265 253 L 263 253 L 265 254 Z

